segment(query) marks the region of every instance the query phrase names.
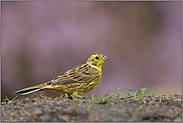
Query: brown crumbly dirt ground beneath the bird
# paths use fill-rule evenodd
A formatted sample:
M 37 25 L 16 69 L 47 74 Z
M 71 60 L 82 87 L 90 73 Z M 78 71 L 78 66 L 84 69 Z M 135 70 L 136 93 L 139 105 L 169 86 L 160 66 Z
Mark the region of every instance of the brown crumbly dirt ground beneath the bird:
M 91 99 L 26 97 L 1 104 L 2 122 L 114 122 L 182 121 L 182 95 L 148 96 L 143 99 L 112 99 L 91 103 Z M 90 103 L 88 103 L 90 102 Z

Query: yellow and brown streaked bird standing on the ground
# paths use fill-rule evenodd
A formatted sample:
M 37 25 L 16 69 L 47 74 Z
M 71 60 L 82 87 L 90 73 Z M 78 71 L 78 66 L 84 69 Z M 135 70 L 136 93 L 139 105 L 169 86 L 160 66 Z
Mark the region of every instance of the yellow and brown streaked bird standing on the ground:
M 73 67 L 46 83 L 24 88 L 14 93 L 27 95 L 37 91 L 55 90 L 65 93 L 67 97 L 81 97 L 80 94 L 91 91 L 100 83 L 102 66 L 108 59 L 104 54 L 95 53 L 87 59 L 86 63 Z

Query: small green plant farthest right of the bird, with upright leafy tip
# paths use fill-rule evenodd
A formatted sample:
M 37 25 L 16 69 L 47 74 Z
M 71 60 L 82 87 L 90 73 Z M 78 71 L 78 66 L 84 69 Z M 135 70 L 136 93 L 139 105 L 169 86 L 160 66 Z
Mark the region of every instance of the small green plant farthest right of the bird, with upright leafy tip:
M 129 90 L 129 95 L 132 96 L 132 97 L 130 97 L 128 99 L 139 99 L 139 98 L 144 98 L 146 96 L 152 96 L 152 95 L 146 94 L 146 92 L 145 92 L 149 88 L 150 87 L 148 87 L 148 88 L 142 88 L 139 91 L 135 91 L 135 90 L 131 90 L 131 89 L 128 89 L 127 88 L 127 90 Z

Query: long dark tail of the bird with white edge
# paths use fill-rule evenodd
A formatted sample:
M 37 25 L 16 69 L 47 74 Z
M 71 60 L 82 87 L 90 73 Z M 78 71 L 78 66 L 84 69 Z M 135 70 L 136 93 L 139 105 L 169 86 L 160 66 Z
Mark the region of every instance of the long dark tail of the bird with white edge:
M 33 86 L 33 87 L 29 87 L 29 88 L 24 88 L 22 90 L 18 90 L 15 93 L 20 94 L 20 95 L 26 95 L 26 94 L 30 94 L 30 93 L 34 93 L 36 91 L 42 91 L 44 90 L 44 88 L 40 88 L 38 86 Z

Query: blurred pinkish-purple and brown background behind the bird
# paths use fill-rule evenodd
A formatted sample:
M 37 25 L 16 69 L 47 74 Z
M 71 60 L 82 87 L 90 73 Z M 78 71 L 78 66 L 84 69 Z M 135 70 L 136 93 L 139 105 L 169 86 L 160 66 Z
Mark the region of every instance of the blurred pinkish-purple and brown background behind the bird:
M 85 95 L 149 86 L 150 94 L 181 93 L 181 1 L 1 5 L 3 99 L 85 63 L 94 53 L 109 60 L 100 84 Z

